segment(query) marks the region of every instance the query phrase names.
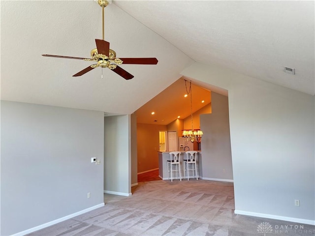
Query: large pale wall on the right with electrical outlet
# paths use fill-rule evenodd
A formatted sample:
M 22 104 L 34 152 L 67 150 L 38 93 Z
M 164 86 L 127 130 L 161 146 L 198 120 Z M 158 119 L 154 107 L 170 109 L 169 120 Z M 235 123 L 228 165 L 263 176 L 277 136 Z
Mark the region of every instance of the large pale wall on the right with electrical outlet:
M 228 90 L 235 212 L 315 224 L 314 96 L 219 66 L 182 74 Z

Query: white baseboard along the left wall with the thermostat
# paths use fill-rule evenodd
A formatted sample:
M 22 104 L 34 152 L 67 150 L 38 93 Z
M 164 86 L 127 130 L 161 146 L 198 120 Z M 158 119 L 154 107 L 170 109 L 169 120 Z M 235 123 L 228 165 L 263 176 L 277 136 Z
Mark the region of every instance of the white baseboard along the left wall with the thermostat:
M 86 213 L 86 212 L 89 212 L 89 211 L 91 211 L 91 210 L 97 209 L 97 208 L 99 208 L 99 207 L 104 207 L 104 206 L 105 206 L 105 204 L 104 204 L 104 203 L 101 203 L 101 204 L 95 205 L 95 206 L 93 206 L 93 207 L 89 207 L 89 208 L 86 208 L 86 209 L 84 209 L 84 210 L 80 210 L 80 211 L 78 211 L 78 212 L 72 213 L 72 214 L 70 214 L 70 215 L 66 215 L 66 216 L 64 216 L 64 217 L 62 217 L 62 218 L 59 218 L 59 219 L 56 219 L 56 220 L 47 222 L 47 223 L 45 223 L 45 224 L 42 224 L 42 225 L 33 227 L 33 228 L 31 228 L 31 229 L 28 229 L 28 230 L 25 230 L 25 231 L 16 233 L 16 234 L 14 234 L 14 235 L 12 235 L 12 236 L 23 236 L 23 235 L 27 235 L 27 234 L 30 234 L 30 233 L 35 232 L 35 231 L 37 231 L 37 230 L 44 229 L 44 228 L 46 228 L 46 227 L 48 227 L 48 226 L 52 226 L 52 225 L 54 225 L 54 224 L 60 223 L 60 222 L 62 222 L 62 221 L 71 219 L 71 218 L 73 218 L 73 217 L 75 217 L 75 216 L 81 215 L 81 214 L 83 214 L 83 213 Z

